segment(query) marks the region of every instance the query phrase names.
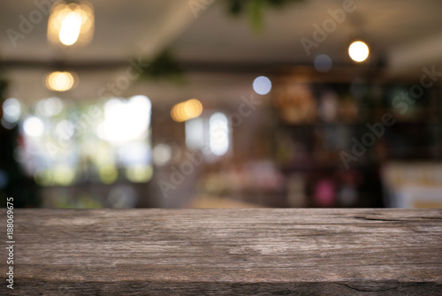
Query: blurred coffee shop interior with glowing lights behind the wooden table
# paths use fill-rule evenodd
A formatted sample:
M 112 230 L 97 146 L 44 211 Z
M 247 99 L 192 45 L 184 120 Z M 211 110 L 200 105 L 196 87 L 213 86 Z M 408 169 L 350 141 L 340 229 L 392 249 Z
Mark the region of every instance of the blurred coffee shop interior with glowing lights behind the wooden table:
M 2 1 L 25 208 L 442 208 L 442 1 Z

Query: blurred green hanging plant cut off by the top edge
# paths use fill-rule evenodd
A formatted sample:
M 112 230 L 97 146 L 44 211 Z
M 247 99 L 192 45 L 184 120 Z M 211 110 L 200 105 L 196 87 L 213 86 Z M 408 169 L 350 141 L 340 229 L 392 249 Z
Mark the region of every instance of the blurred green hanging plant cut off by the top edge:
M 248 13 L 255 31 L 263 29 L 263 15 L 266 7 L 281 8 L 286 4 L 302 2 L 304 0 L 227 0 L 228 11 L 232 15 Z

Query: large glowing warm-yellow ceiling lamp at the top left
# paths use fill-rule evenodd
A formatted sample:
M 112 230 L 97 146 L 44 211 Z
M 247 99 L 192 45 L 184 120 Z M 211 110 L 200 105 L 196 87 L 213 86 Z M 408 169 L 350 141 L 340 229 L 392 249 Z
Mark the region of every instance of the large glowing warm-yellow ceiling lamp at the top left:
M 50 10 L 48 40 L 55 45 L 86 45 L 94 37 L 94 7 L 88 2 L 56 2 Z

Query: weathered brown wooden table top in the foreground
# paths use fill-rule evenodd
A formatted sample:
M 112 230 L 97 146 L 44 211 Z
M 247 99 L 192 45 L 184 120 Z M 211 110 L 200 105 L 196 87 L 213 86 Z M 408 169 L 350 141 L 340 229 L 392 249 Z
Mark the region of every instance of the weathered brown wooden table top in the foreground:
M 0 295 L 442 295 L 440 209 L 15 209 L 14 240 Z

